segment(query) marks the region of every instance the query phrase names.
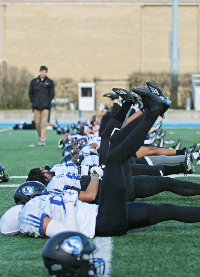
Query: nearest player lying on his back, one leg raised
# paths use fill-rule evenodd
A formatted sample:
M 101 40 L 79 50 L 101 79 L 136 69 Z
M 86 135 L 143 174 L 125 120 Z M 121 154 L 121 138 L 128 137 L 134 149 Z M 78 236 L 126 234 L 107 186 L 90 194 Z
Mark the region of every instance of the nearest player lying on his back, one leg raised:
M 139 122 L 120 145 L 108 151 L 100 187 L 99 205 L 81 202 L 78 200 L 77 191 L 72 190 L 64 191 L 63 195 L 38 196 L 27 202 L 24 207 L 17 205 L 6 211 L 0 221 L 1 232 L 12 234 L 18 230 L 35 237 L 44 235 L 52 237 L 61 231 L 79 231 L 92 238 L 95 235 L 123 235 L 128 230 L 167 220 L 199 222 L 200 207 L 127 203 L 123 165 L 141 146 L 156 118 L 160 114 L 163 115 L 170 106 L 166 98 L 154 94 L 151 96 L 146 92 L 143 92 L 144 95 L 148 108 L 143 118 L 145 124 Z M 137 139 L 137 135 L 140 139 Z M 98 174 L 94 172 L 92 178 L 98 179 Z

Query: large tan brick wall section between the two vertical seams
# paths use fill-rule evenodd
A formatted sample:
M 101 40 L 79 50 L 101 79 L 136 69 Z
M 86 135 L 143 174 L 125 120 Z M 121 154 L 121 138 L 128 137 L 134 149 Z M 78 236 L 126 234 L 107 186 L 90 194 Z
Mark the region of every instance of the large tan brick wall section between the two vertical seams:
M 49 76 L 127 78 L 139 70 L 139 6 L 6 6 L 4 49 L 10 64 Z

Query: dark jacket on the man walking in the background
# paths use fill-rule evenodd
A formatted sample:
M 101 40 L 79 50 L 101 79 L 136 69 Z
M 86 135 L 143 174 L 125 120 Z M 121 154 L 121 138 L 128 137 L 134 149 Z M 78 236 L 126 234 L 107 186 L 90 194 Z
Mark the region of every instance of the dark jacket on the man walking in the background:
M 54 97 L 54 83 L 47 76 L 41 81 L 40 76 L 34 78 L 29 86 L 29 98 L 32 108 L 44 110 L 51 108 L 51 101 Z

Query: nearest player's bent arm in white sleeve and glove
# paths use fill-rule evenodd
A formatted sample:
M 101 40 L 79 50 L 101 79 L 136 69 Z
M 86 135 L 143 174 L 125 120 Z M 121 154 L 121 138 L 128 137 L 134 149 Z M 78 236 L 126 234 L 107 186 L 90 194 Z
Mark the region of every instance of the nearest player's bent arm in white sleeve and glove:
M 78 223 L 75 211 L 78 193 L 77 191 L 67 190 L 64 191 L 63 194 L 63 200 L 65 203 L 65 220 L 64 222 L 61 222 L 45 216 L 42 233 L 48 237 L 52 237 L 64 231 L 78 231 Z

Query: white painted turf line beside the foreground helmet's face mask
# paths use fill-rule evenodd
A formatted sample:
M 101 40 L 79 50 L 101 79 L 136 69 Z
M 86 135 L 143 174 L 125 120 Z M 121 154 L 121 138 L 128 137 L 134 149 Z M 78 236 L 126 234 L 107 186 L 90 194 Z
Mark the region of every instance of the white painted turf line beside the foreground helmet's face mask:
M 99 251 L 94 255 L 96 258 L 102 258 L 105 262 L 104 277 L 108 277 L 111 270 L 112 257 L 112 237 L 95 237 L 94 244 Z

